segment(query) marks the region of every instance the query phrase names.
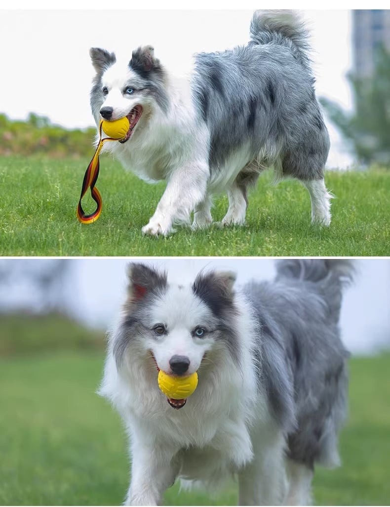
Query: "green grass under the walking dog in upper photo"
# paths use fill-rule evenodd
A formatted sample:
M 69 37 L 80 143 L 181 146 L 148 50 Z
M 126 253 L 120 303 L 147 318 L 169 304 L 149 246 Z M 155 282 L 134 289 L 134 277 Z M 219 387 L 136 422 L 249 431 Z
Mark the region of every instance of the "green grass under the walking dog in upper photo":
M 92 153 L 91 153 L 92 156 Z M 310 199 L 296 181 L 271 185 L 259 178 L 249 198 L 247 225 L 169 238 L 143 237 L 165 184 L 148 185 L 101 157 L 100 219 L 75 216 L 88 159 L 0 157 L 0 255 L 5 256 L 387 256 L 390 243 L 390 171 L 328 172 L 337 196 L 329 229 L 311 226 Z M 86 211 L 88 201 L 83 205 Z M 223 218 L 226 196 L 215 201 Z

